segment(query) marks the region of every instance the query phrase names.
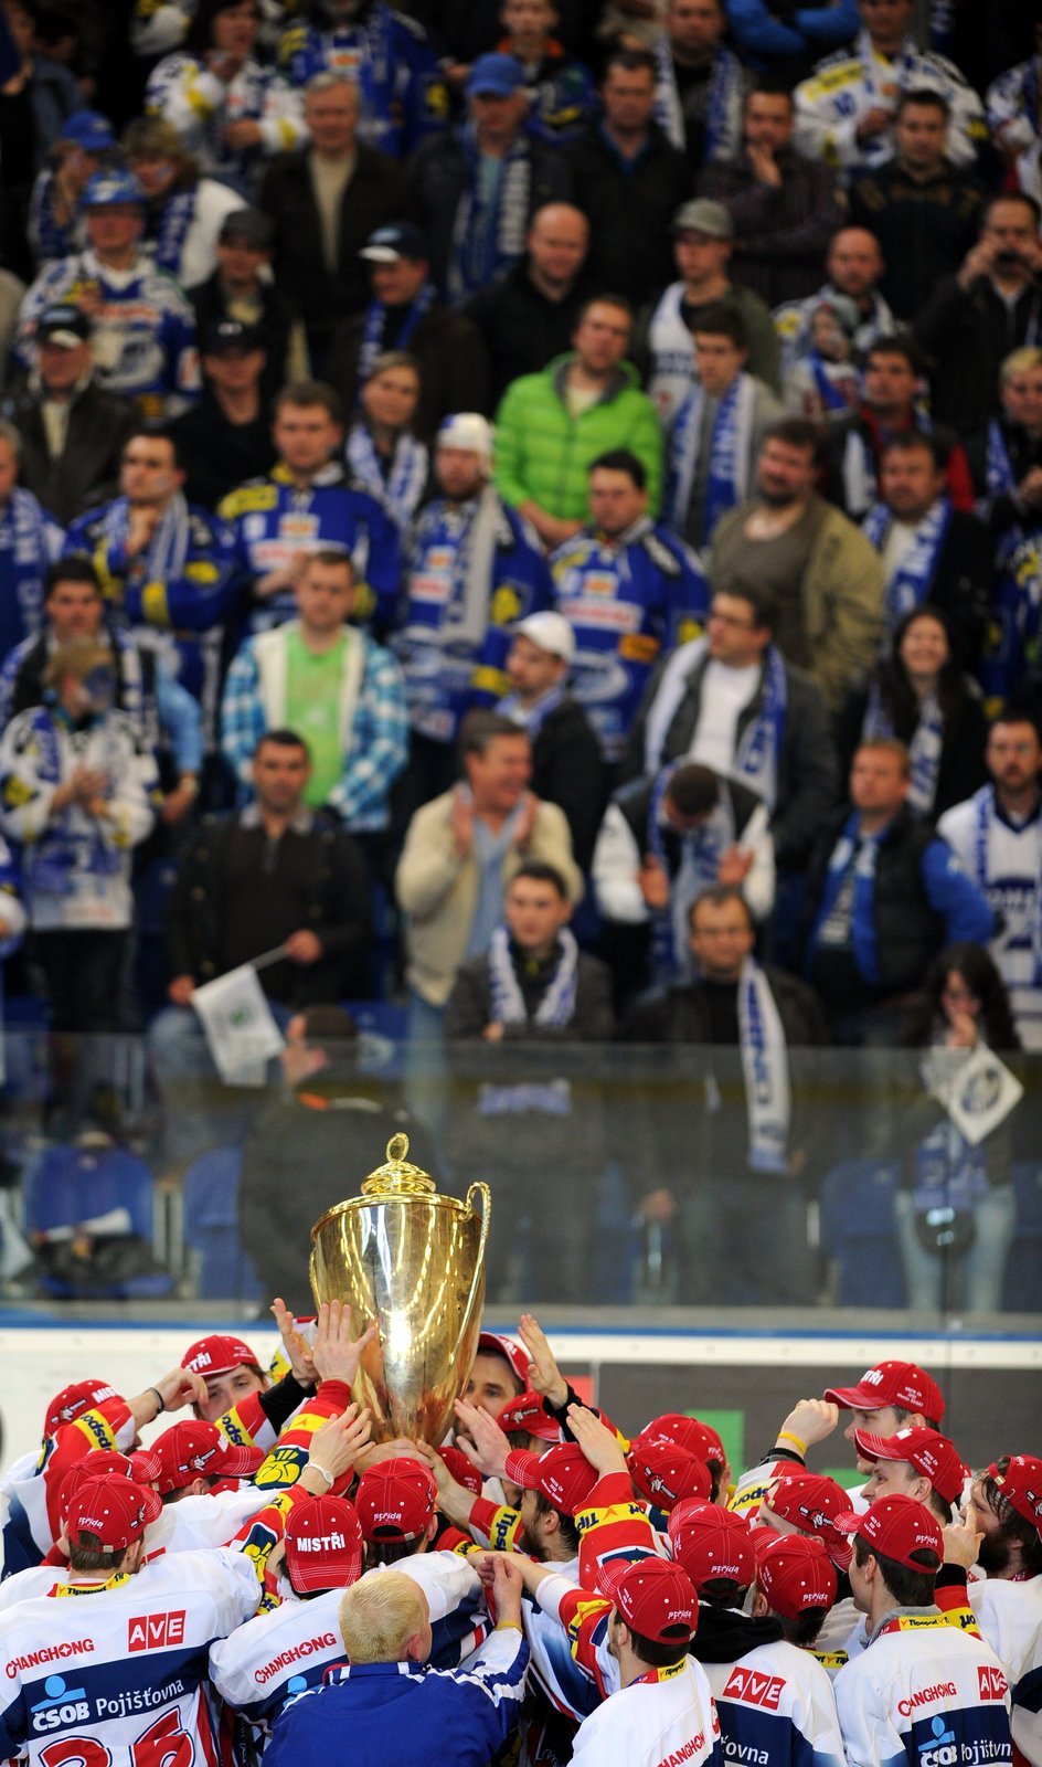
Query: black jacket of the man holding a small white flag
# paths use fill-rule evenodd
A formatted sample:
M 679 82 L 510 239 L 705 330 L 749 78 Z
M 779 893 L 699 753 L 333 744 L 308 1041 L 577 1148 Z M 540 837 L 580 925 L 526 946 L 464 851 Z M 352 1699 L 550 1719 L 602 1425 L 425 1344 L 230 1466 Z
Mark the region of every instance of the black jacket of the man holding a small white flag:
M 228 843 L 237 825 L 237 813 L 205 816 L 182 857 L 166 915 L 171 975 L 207 982 L 228 967 L 221 931 Z M 318 963 L 279 963 L 263 972 L 265 986 L 274 991 L 276 972 L 290 970 L 290 1004 L 297 1009 L 367 993 L 362 959 L 371 921 L 366 864 L 350 834 L 316 816 L 304 838 L 309 843 L 309 903 L 304 919 L 307 929 L 318 935 L 323 954 Z M 281 998 L 283 991 L 276 997 Z

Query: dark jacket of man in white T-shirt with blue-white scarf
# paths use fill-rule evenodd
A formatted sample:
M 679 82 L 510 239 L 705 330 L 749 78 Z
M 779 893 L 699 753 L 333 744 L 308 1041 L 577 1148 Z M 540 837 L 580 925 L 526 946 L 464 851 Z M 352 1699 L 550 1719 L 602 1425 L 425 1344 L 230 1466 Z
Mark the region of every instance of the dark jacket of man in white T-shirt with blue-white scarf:
M 662 767 L 668 762 L 680 760 L 691 749 L 701 716 L 701 684 L 708 661 L 708 654 L 703 652 L 687 677 L 687 693 L 676 707 L 662 744 L 659 760 Z M 666 663 L 661 663 L 652 675 L 630 730 L 623 762 L 627 779 L 634 779 L 645 770 L 645 730 L 664 668 Z M 821 818 L 828 815 L 839 797 L 839 769 L 821 689 L 802 668 L 795 668 L 791 663 L 784 664 L 784 671 L 788 705 L 781 753 L 777 756 L 777 802 L 770 820 L 770 832 L 774 836 L 774 857 L 779 869 L 793 869 L 807 857 L 811 843 L 821 827 Z M 738 717 L 735 730 L 736 744 L 745 735 L 761 703 L 763 680 Z

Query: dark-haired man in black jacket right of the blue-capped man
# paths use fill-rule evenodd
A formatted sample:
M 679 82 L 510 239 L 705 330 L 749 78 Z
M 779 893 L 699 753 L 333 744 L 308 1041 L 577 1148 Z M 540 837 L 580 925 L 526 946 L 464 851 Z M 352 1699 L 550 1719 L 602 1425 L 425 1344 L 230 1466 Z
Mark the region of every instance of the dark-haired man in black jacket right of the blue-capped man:
M 616 49 L 600 87 L 604 115 L 567 148 L 576 201 L 590 221 L 590 276 L 646 300 L 673 274 L 669 221 L 691 196 L 687 161 L 653 122 L 655 58 Z

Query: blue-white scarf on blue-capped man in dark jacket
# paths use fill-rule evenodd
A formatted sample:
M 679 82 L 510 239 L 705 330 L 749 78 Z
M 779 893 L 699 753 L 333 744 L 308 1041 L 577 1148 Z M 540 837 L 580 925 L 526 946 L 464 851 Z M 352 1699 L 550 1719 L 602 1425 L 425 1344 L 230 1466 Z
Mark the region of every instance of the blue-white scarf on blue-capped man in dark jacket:
M 449 299 L 459 306 L 495 283 L 525 256 L 532 196 L 532 143 L 521 134 L 500 161 L 495 198 L 482 193 L 480 148 L 473 124 L 464 124 L 466 186 L 452 226 Z

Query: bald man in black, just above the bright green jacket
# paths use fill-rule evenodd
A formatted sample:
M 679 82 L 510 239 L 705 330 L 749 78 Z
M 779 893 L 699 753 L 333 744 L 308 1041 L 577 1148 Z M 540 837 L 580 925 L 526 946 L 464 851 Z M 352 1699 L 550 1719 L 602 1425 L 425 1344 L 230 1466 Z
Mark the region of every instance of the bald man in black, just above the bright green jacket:
M 537 375 L 572 346 L 579 311 L 597 288 L 586 272 L 590 223 L 570 203 L 546 203 L 532 216 L 525 258 L 466 307 L 489 362 L 487 415 L 517 375 Z

